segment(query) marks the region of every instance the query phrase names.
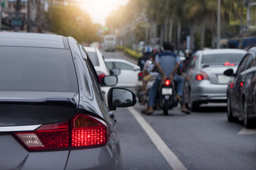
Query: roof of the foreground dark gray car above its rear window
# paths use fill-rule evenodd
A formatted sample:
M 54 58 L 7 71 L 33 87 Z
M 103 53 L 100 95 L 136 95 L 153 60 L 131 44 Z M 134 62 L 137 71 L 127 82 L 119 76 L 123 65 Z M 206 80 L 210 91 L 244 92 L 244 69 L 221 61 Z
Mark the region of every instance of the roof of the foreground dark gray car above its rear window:
M 0 33 L 0 47 L 47 47 L 68 49 L 68 38 L 62 35 L 51 35 L 43 33 Z

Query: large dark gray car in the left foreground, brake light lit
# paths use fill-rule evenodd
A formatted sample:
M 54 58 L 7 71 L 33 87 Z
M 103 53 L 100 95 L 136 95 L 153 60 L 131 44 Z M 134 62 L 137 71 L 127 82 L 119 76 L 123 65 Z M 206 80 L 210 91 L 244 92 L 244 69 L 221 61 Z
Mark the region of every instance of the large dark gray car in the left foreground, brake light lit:
M 0 169 L 122 169 L 110 110 L 133 106 L 132 91 L 110 89 L 107 105 L 71 37 L 0 33 L 0 50 Z

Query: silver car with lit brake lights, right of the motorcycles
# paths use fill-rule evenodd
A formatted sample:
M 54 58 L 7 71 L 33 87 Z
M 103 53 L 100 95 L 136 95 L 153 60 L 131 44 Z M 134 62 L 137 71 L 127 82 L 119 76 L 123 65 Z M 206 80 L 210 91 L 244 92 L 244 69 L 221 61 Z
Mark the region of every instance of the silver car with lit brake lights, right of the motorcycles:
M 225 103 L 230 77 L 223 72 L 238 67 L 245 50 L 214 49 L 199 50 L 193 55 L 183 74 L 185 102 L 195 111 L 201 103 Z

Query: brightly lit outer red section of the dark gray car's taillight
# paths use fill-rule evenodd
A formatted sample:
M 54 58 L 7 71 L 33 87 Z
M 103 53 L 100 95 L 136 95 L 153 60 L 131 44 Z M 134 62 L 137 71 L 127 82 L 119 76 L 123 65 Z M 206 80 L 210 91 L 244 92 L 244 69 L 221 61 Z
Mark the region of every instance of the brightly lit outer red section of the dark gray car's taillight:
M 86 115 L 76 115 L 72 125 L 72 147 L 105 145 L 108 140 L 106 125 Z

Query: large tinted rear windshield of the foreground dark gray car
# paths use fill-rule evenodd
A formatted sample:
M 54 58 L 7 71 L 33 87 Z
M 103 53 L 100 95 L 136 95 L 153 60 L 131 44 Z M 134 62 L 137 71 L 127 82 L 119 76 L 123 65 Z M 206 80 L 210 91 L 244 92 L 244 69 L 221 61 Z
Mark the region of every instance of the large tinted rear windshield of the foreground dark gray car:
M 0 51 L 0 91 L 78 91 L 70 50 L 0 47 Z

